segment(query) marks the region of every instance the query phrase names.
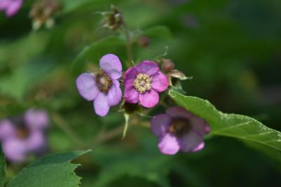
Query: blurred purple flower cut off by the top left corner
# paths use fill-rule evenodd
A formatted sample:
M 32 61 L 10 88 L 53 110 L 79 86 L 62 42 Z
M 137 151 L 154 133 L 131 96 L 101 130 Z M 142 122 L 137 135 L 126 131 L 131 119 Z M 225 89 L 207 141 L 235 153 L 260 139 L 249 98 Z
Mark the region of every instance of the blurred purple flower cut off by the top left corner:
M 15 15 L 22 6 L 22 0 L 1 0 L 0 11 L 5 11 L 8 17 Z

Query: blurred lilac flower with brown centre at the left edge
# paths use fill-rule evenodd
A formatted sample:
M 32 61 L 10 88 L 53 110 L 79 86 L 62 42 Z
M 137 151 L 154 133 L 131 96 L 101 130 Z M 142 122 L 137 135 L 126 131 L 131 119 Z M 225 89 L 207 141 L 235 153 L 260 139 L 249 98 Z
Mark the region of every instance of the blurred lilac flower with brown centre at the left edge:
M 44 130 L 48 125 L 46 111 L 29 109 L 24 116 L 0 121 L 0 141 L 6 158 L 22 162 L 29 153 L 46 148 Z

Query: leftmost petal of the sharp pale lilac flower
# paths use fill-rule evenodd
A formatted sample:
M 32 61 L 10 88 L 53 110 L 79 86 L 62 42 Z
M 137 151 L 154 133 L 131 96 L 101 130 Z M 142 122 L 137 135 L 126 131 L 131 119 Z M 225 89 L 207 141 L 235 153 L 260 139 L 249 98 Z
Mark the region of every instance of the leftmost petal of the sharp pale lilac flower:
M 78 76 L 76 79 L 76 87 L 80 95 L 88 101 L 94 100 L 100 92 L 95 84 L 95 77 L 88 73 L 83 73 Z

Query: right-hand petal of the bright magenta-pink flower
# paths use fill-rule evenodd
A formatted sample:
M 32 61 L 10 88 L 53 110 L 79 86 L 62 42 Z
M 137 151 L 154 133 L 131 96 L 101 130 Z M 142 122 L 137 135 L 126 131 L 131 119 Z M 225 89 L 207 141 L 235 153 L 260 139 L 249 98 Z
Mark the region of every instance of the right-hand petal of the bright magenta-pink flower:
M 153 90 L 156 90 L 157 92 L 164 92 L 167 90 L 168 85 L 169 81 L 162 72 L 159 71 L 157 74 L 152 76 L 151 87 Z

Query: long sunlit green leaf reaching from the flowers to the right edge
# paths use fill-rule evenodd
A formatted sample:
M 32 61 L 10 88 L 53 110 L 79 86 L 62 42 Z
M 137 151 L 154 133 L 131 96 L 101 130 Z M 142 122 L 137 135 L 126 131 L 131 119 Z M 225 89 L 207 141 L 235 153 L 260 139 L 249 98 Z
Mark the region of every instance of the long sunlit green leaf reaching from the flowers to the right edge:
M 210 134 L 240 139 L 247 145 L 281 160 L 281 132 L 248 116 L 222 113 L 210 102 L 198 97 L 184 96 L 172 90 L 169 95 L 179 106 L 205 119 L 210 124 Z

